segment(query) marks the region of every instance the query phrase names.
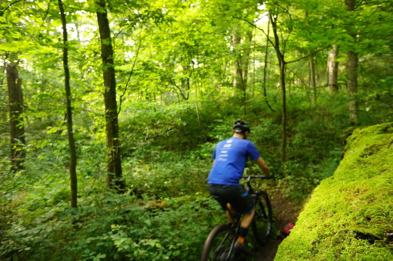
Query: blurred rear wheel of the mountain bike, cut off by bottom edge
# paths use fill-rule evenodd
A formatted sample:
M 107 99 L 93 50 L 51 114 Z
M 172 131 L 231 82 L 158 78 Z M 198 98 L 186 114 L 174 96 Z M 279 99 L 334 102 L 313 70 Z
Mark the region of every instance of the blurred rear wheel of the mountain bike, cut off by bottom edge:
M 235 231 L 228 224 L 221 224 L 212 229 L 207 236 L 202 250 L 201 261 L 226 261 Z

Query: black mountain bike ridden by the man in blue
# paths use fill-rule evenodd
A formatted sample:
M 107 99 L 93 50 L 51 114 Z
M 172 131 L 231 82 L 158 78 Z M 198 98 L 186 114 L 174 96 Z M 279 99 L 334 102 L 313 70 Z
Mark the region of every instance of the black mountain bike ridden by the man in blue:
M 266 191 L 254 191 L 251 187 L 252 179 L 271 179 L 266 176 L 244 176 L 247 178 L 247 190 L 255 200 L 255 215 L 251 223 L 253 236 L 257 243 L 264 244 L 272 230 L 272 207 L 270 205 L 269 196 Z M 219 196 L 212 196 L 220 202 Z M 213 228 L 207 236 L 202 250 L 201 261 L 242 261 L 245 260 L 244 251 L 235 249 L 235 243 L 239 236 L 241 216 L 232 214 L 233 223 L 220 224 Z

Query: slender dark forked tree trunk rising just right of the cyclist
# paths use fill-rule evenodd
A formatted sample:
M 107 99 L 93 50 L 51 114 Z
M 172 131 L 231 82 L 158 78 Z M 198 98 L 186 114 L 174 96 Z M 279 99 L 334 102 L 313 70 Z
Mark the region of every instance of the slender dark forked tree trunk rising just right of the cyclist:
M 285 67 L 286 63 L 284 60 L 284 54 L 280 50 L 280 40 L 277 33 L 277 16 L 273 17 L 269 13 L 269 20 L 273 27 L 274 34 L 274 49 L 276 50 L 277 58 L 280 66 L 280 85 L 282 94 L 282 122 L 281 122 L 281 161 L 286 161 L 286 90 L 285 90 Z

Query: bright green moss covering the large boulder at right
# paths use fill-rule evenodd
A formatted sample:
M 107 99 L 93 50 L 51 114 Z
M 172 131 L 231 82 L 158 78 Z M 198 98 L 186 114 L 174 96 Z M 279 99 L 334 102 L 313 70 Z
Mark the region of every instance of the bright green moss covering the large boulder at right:
M 276 261 L 393 260 L 393 123 L 356 129 L 311 194 Z

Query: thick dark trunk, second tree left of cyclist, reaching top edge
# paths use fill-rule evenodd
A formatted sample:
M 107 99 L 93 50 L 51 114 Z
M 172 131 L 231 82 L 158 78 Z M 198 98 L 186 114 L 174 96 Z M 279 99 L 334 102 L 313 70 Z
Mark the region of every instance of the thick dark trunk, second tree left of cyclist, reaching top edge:
M 107 134 L 107 186 L 119 191 L 124 189 L 121 173 L 119 124 L 117 119 L 116 82 L 113 64 L 111 30 L 105 0 L 97 1 L 101 7 L 97 11 L 98 28 L 101 39 L 102 70 L 104 75 L 104 102 Z

